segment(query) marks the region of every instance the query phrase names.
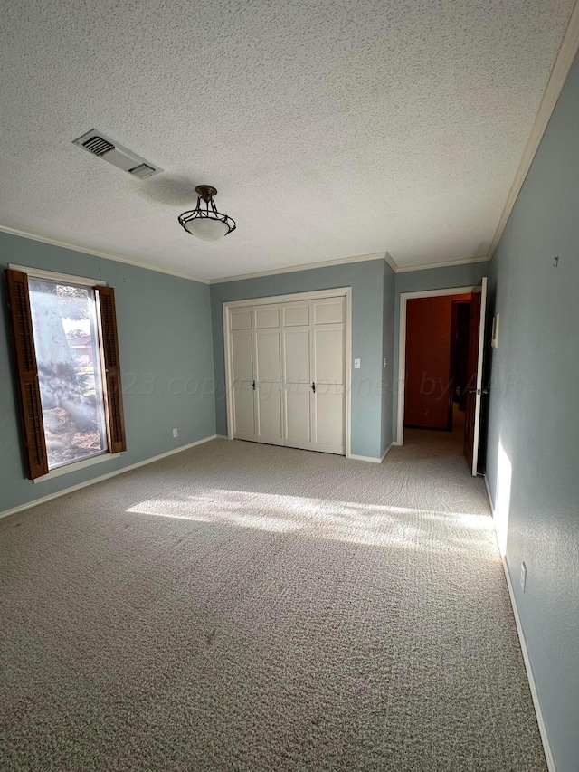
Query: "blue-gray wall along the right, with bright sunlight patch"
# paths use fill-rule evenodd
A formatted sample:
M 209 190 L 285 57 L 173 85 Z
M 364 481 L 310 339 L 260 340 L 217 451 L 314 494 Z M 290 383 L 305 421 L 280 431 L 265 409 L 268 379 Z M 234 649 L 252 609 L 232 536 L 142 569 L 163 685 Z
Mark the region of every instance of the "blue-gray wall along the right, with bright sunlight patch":
M 508 516 L 508 571 L 558 772 L 579 769 L 578 213 L 576 61 L 490 273 L 500 337 L 487 476 Z

